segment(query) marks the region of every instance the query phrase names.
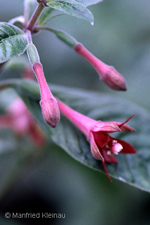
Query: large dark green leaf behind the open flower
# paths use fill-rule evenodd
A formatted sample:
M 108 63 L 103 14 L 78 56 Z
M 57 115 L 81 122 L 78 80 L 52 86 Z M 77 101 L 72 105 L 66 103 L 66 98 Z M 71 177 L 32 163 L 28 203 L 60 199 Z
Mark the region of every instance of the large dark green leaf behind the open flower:
M 70 121 L 61 116 L 60 123 L 55 129 L 44 122 L 39 106 L 40 93 L 36 82 L 15 79 L 0 84 L 1 89 L 7 87 L 16 89 L 48 138 L 51 138 L 77 161 L 104 172 L 101 162 L 92 157 L 85 136 Z M 137 150 L 137 154 L 119 154 L 117 156 L 118 165 L 107 163 L 106 166 L 112 177 L 150 192 L 149 113 L 127 100 L 109 94 L 104 95 L 59 86 L 51 86 L 51 90 L 67 105 L 96 120 L 123 122 L 130 115 L 135 114 L 128 124 L 134 127 L 137 132 L 116 133 L 115 137 L 132 144 Z

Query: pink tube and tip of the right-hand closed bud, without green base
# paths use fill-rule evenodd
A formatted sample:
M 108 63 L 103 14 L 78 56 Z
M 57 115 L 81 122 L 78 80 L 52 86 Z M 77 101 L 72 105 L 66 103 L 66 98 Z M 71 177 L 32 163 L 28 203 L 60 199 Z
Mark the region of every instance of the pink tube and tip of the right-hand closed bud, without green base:
M 100 76 L 100 79 L 110 88 L 123 91 L 127 89 L 125 79 L 113 66 L 109 66 L 103 63 L 80 43 L 77 43 L 74 49 L 96 69 Z

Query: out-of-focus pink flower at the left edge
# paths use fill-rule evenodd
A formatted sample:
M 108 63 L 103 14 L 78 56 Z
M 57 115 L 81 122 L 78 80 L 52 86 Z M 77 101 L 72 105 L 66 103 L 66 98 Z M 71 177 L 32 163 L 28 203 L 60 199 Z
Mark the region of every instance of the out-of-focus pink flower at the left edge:
M 28 135 L 36 146 L 43 146 L 45 137 L 23 101 L 17 98 L 0 116 L 0 128 L 11 128 L 17 136 Z

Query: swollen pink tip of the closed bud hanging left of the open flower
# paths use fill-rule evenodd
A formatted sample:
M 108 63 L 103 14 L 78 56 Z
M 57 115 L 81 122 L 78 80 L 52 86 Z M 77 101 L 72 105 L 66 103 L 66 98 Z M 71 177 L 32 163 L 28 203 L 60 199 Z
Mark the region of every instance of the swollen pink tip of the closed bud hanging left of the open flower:
M 60 120 L 60 111 L 57 100 L 54 97 L 40 101 L 42 114 L 46 123 L 51 127 L 56 127 Z

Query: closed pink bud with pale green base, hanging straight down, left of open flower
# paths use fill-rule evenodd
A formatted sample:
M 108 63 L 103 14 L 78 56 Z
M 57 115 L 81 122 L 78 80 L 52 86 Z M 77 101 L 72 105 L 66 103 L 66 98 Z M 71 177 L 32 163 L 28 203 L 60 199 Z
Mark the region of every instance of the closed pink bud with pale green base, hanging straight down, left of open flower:
M 51 127 L 56 127 L 60 120 L 60 112 L 56 98 L 51 93 L 48 84 L 46 82 L 43 67 L 40 63 L 38 52 L 36 47 L 31 43 L 27 49 L 28 57 L 32 65 L 32 69 L 36 75 L 37 81 L 40 86 L 41 93 L 41 109 L 43 117 Z

